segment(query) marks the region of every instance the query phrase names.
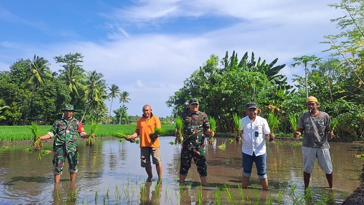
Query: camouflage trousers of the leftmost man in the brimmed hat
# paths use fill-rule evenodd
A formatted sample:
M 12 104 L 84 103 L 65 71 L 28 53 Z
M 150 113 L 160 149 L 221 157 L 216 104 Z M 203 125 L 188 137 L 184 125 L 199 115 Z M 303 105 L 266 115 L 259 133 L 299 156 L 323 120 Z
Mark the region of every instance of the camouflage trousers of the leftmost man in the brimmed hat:
M 77 173 L 77 164 L 78 164 L 78 156 L 77 156 L 77 148 L 76 151 L 67 153 L 66 145 L 57 145 L 54 146 L 54 157 L 53 157 L 53 165 L 54 165 L 54 175 L 61 175 L 63 172 L 63 166 L 65 164 L 65 160 L 68 160 L 68 171 L 72 173 Z

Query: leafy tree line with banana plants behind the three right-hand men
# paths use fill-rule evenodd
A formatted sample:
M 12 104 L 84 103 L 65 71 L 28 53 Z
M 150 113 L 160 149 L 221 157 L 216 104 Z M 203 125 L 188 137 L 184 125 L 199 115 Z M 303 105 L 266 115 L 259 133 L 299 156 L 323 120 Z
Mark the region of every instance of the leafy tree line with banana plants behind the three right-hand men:
M 293 85 L 279 72 L 284 64 L 276 65 L 278 58 L 267 63 L 254 53 L 242 58 L 226 52 L 220 59 L 210 58 L 184 82 L 184 86 L 170 96 L 167 105 L 179 115 L 188 99 L 201 99 L 200 109 L 218 120 L 218 131 L 233 132 L 234 113 L 245 115 L 245 104 L 257 102 L 260 115 L 279 116 L 278 131 L 291 133 L 288 114 L 306 110 L 306 98 L 319 100 L 319 110 L 339 119 L 336 136 L 341 141 L 364 140 L 364 2 L 341 0 L 329 7 L 342 10 L 344 16 L 331 20 L 340 29 L 339 34 L 324 36 L 328 44 L 328 59 L 315 55 L 293 58 L 289 66 L 300 66 L 305 77 L 294 75 Z M 286 134 L 286 135 L 287 135 Z

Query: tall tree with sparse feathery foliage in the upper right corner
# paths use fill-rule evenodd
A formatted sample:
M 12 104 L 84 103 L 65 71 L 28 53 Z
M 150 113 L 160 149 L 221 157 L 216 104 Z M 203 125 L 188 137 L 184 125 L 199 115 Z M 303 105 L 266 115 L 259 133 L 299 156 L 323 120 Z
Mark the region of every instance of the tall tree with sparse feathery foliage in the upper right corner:
M 346 75 L 350 78 L 347 91 L 358 98 L 364 96 L 364 1 L 341 0 L 329 7 L 340 9 L 344 16 L 332 19 L 340 28 L 339 34 L 326 35 L 322 43 L 330 44 L 325 51 L 333 51 L 346 67 Z

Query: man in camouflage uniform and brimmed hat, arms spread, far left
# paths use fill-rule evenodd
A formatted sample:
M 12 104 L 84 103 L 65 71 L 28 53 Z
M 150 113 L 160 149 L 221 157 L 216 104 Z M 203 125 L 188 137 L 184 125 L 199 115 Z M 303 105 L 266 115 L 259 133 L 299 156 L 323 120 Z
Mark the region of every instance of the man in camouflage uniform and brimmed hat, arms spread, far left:
M 77 133 L 80 134 L 81 138 L 90 137 L 86 134 L 81 122 L 73 117 L 73 113 L 76 111 L 73 105 L 66 105 L 62 111 L 64 117 L 56 120 L 48 133 L 40 136 L 40 140 L 46 140 L 55 136 L 53 143 L 54 183 L 59 183 L 66 158 L 69 164 L 68 171 L 70 172 L 71 181 L 75 181 L 78 171 Z M 95 134 L 92 133 L 91 137 L 94 138 L 94 136 Z

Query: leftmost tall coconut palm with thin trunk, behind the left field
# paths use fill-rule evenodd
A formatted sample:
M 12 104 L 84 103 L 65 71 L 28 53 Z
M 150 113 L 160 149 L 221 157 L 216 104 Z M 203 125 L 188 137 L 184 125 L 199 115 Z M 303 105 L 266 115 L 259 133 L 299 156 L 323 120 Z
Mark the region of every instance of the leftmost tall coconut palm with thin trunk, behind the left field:
M 24 125 L 26 124 L 29 115 L 30 105 L 32 103 L 32 97 L 35 89 L 43 85 L 44 80 L 52 78 L 52 73 L 49 69 L 49 65 L 50 64 L 48 60 L 44 59 L 43 57 L 39 57 L 35 54 L 33 60 L 30 62 L 30 67 L 28 71 L 29 77 L 27 78 L 27 84 L 31 88 L 31 93 L 29 98 L 28 110 L 24 115 Z

